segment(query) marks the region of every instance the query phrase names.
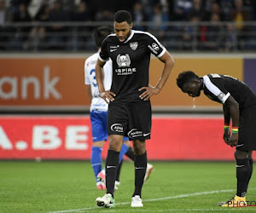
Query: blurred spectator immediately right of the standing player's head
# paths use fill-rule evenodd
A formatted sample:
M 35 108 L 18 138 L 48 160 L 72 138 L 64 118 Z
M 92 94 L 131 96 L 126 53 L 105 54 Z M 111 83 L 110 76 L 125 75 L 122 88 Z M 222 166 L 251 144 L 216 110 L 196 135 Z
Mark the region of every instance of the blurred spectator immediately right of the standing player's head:
M 133 29 L 138 30 L 138 31 L 146 30 L 143 26 L 138 25 L 142 21 L 148 20 L 146 14 L 143 12 L 143 5 L 141 3 L 134 4 L 131 15 L 132 15 L 132 20 L 134 22 L 137 22 L 135 24 L 135 26 L 133 26 Z

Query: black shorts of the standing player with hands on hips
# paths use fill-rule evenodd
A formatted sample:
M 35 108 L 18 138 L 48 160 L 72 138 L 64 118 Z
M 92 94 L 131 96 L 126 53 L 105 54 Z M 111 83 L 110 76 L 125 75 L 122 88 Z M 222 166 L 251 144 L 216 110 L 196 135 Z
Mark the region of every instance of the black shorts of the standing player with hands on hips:
M 150 101 L 138 103 L 114 103 L 108 106 L 108 135 L 128 136 L 131 141 L 150 139 Z

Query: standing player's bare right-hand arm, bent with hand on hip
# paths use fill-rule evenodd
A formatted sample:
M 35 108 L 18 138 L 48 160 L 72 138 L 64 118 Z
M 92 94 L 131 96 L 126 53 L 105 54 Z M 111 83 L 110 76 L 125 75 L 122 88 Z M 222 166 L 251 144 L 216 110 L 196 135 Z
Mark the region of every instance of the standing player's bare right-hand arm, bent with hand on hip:
M 160 60 L 165 64 L 165 66 L 158 83 L 156 83 L 155 87 L 148 85 L 148 87 L 142 87 L 139 89 L 139 91 L 143 89 L 145 90 L 143 94 L 140 95 L 140 98 L 144 101 L 147 101 L 152 95 L 158 95 L 160 93 L 160 90 L 163 89 L 172 72 L 174 60 L 168 51 L 166 51 L 166 53 L 160 57 Z

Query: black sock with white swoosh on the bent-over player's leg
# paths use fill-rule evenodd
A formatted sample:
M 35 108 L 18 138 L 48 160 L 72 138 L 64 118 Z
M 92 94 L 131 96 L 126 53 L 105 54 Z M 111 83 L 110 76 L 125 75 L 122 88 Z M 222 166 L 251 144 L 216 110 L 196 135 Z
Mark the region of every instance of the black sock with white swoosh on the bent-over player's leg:
M 236 195 L 239 197 L 246 196 L 249 174 L 250 174 L 249 160 L 247 158 L 237 159 L 236 160 L 236 179 L 237 179 Z

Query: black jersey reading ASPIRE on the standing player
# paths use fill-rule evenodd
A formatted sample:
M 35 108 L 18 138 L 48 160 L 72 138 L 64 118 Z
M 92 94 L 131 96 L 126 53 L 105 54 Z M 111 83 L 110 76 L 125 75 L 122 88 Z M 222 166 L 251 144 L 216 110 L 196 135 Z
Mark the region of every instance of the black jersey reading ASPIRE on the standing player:
M 99 59 L 103 62 L 113 60 L 113 81 L 111 91 L 116 95 L 115 101 L 142 101 L 138 91 L 148 87 L 148 67 L 150 54 L 158 58 L 166 49 L 156 37 L 148 32 L 131 31 L 125 42 L 119 42 L 116 34 L 110 34 L 102 43 Z

